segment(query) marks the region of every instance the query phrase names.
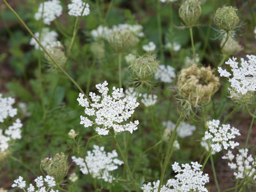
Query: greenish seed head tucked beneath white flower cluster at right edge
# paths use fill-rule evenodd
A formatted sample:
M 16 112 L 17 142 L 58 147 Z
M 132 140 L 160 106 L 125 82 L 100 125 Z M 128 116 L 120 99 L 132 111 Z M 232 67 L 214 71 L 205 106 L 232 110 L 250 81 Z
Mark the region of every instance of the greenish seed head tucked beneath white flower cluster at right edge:
M 251 105 L 255 100 L 255 93 L 247 91 L 245 94 L 238 93 L 235 89 L 228 88 L 230 98 L 241 105 Z

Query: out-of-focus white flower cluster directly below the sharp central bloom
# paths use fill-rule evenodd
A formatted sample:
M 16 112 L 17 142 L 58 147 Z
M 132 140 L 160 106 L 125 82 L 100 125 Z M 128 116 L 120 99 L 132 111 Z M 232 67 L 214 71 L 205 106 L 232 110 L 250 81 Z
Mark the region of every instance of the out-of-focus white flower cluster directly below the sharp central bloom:
M 73 162 L 79 166 L 83 174 L 88 174 L 86 164 L 89 172 L 93 178 L 103 179 L 106 182 L 112 182 L 115 178 L 109 173 L 116 170 L 117 165 L 122 165 L 123 162 L 116 158 L 116 150 L 111 153 L 104 151 L 104 147 L 94 145 L 92 151 L 87 151 L 87 156 L 83 159 L 81 157 L 72 157 Z M 86 164 L 85 164 L 86 162 Z

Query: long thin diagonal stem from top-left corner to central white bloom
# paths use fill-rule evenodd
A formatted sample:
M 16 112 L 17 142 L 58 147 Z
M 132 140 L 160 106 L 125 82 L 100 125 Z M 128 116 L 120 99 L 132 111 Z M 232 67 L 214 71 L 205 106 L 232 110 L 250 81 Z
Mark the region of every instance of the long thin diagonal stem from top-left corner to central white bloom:
M 28 26 L 26 25 L 26 23 L 20 18 L 20 16 L 12 9 L 12 7 L 6 2 L 6 0 L 3 0 L 4 1 L 4 3 L 6 4 L 6 6 L 7 7 L 9 7 L 9 9 L 16 15 L 16 17 L 20 20 L 20 22 L 21 22 L 21 24 L 23 25 L 23 27 L 25 27 L 26 28 L 26 30 L 28 31 L 28 33 L 35 39 L 35 41 L 39 44 L 39 46 L 43 49 L 43 51 L 45 52 L 45 54 L 47 54 L 47 56 L 52 60 L 52 62 L 54 63 L 54 65 L 56 65 L 61 71 L 62 71 L 62 73 L 63 74 L 65 74 L 69 79 L 70 79 L 70 81 L 77 87 L 77 89 L 81 92 L 81 93 L 83 93 L 84 95 L 85 95 L 85 93 L 84 93 L 84 91 L 81 89 L 81 87 L 76 83 L 76 81 L 72 78 L 72 77 L 70 77 L 68 74 L 67 74 L 67 72 L 52 58 L 52 56 L 51 56 L 51 54 L 49 54 L 47 51 L 46 51 L 46 49 L 45 49 L 45 47 L 38 41 L 38 39 L 35 37 L 35 35 L 32 33 L 32 31 L 28 28 Z M 87 98 L 87 96 L 85 95 L 85 97 Z M 89 102 L 91 102 L 90 101 L 90 99 L 89 98 L 87 98 L 88 100 L 89 100 Z

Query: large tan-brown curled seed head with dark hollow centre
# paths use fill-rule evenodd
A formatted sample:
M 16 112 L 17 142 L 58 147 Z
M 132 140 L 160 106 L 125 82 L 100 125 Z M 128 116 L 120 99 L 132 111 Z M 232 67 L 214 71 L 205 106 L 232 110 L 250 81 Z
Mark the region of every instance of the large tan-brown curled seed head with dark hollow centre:
M 218 91 L 219 86 L 219 78 L 213 75 L 210 67 L 198 68 L 194 64 L 182 69 L 178 77 L 179 93 L 193 107 L 209 103 L 211 96 Z

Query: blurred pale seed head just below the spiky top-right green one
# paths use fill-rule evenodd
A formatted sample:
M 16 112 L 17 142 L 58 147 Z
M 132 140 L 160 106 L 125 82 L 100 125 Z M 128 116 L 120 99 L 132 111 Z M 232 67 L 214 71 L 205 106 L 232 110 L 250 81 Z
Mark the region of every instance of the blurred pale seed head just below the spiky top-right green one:
M 223 38 L 220 42 L 220 46 L 222 47 L 223 43 L 225 43 L 226 38 Z M 223 53 L 227 54 L 227 55 L 233 55 L 236 54 L 240 51 L 242 51 L 244 49 L 243 46 L 241 46 L 235 39 L 233 39 L 232 37 L 228 38 L 228 41 L 226 42 L 226 44 L 223 46 Z

